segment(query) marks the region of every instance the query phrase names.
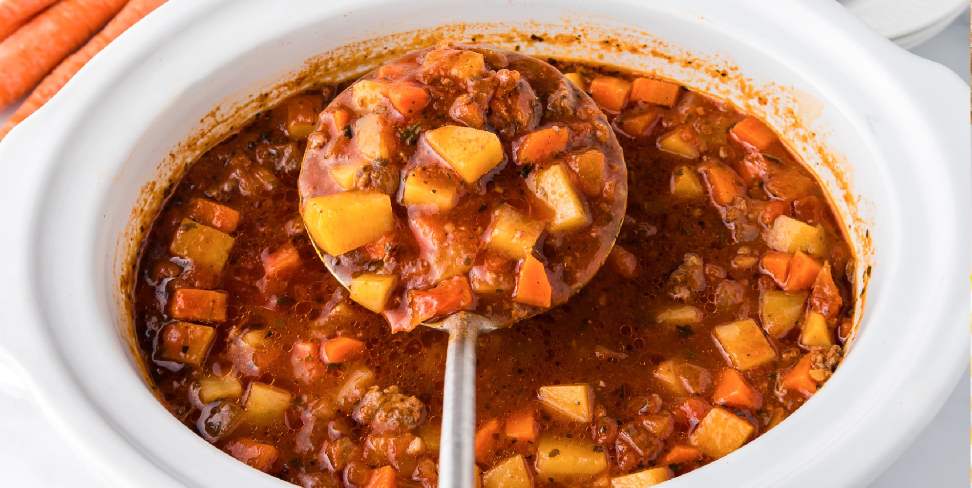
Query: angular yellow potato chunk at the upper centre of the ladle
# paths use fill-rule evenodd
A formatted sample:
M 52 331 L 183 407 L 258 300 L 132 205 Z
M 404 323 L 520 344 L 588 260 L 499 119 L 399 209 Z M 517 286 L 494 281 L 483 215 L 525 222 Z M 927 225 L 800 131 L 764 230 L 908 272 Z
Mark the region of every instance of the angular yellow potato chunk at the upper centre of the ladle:
M 466 182 L 478 181 L 503 161 L 503 145 L 492 132 L 446 125 L 425 133 L 426 143 Z

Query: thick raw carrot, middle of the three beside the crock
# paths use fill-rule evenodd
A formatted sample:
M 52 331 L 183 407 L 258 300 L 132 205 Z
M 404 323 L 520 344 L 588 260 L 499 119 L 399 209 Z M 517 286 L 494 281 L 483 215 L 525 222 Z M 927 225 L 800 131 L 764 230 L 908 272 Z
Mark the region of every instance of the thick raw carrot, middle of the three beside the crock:
M 0 109 L 26 95 L 57 63 L 78 49 L 125 0 L 64 0 L 0 43 Z

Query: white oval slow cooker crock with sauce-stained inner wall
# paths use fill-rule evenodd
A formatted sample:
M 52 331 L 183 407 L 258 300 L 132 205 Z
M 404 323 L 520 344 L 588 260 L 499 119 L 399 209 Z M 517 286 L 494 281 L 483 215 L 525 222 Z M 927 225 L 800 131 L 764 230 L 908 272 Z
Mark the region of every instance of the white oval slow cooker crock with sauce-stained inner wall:
M 836 2 L 172 0 L 0 144 L 0 361 L 94 472 L 290 486 L 156 400 L 125 298 L 143 228 L 164 187 L 261 107 L 442 37 L 730 99 L 781 130 L 843 215 L 862 292 L 844 364 L 779 427 L 665 486 L 862 486 L 930 421 L 969 357 L 969 87 Z

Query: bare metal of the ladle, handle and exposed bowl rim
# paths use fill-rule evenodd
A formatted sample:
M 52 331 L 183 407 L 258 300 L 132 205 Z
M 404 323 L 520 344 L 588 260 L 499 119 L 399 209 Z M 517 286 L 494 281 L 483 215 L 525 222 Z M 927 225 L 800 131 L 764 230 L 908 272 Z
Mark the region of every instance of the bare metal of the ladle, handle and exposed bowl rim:
M 607 129 L 607 135 L 605 136 L 607 142 L 604 144 L 613 153 L 611 154 L 612 159 L 620 162 L 621 175 L 626 178 L 623 154 L 613 133 L 609 129 L 607 118 L 604 114 L 601 114 L 597 106 L 594 105 L 594 102 L 583 94 L 582 90 L 576 88 L 572 81 L 564 77 L 556 68 L 536 58 L 486 45 L 477 45 L 476 49 L 502 51 L 510 59 L 515 59 L 515 63 L 518 63 L 520 66 L 529 65 L 532 73 L 537 74 L 538 78 L 543 78 L 541 82 L 548 84 L 552 82 L 566 83 L 565 86 L 568 86 L 569 90 L 574 90 L 577 96 L 582 98 L 581 103 L 590 104 L 589 107 L 593 106 L 597 117 L 600 118 L 600 121 L 597 121 L 597 123 L 603 124 Z M 600 260 L 600 262 L 592 263 L 596 267 L 588 267 L 583 274 L 583 278 L 573 283 L 566 297 L 563 300 L 552 303 L 550 308 L 563 304 L 567 301 L 567 298 L 573 296 L 574 293 L 587 284 L 587 281 L 595 275 L 596 270 L 600 268 L 607 258 L 610 248 L 614 245 L 617 233 L 620 231 L 621 220 L 623 220 L 624 208 L 627 201 L 626 180 L 617 184 L 616 191 L 618 193 L 614 198 L 615 205 L 612 207 L 612 211 L 620 214 L 614 215 L 616 218 L 612 219 L 605 227 L 605 231 L 609 233 L 610 242 L 596 254 L 596 260 Z M 314 244 L 313 240 L 311 242 Z M 317 244 L 314 244 L 314 248 L 317 249 L 318 255 L 324 261 L 330 274 L 344 287 L 350 289 L 351 277 L 339 273 L 335 269 L 337 259 L 323 252 Z M 550 308 L 536 309 L 532 313 L 519 317 L 519 319 L 528 318 Z M 482 315 L 469 311 L 458 311 L 434 322 L 423 322 L 421 325 L 449 334 L 449 345 L 445 360 L 442 430 L 438 458 L 439 486 L 471 488 L 474 486 L 473 483 L 475 480 L 474 438 L 477 340 L 481 334 L 486 334 L 497 330 L 500 326 L 508 326 L 511 324 L 497 324 Z

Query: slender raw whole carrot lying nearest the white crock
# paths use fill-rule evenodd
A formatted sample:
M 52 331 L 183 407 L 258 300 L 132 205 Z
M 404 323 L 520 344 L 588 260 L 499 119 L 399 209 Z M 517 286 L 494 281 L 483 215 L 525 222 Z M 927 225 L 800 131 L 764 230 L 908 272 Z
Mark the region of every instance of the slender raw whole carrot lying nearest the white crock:
M 81 70 L 81 68 L 87 64 L 87 61 L 94 57 L 95 54 L 100 52 L 101 49 L 104 49 L 105 46 L 108 46 L 109 43 L 118 38 L 122 32 L 128 30 L 128 28 L 134 25 L 135 22 L 141 20 L 142 17 L 147 16 L 149 13 L 156 10 L 156 8 L 165 3 L 166 0 L 128 0 L 127 4 L 125 4 L 125 1 L 126 0 L 64 0 L 61 2 L 61 4 L 52 7 L 51 11 L 49 12 L 59 8 L 62 4 L 67 3 L 82 4 L 84 8 L 92 11 L 100 9 L 101 13 L 107 15 L 108 17 L 105 17 L 104 19 L 100 19 L 99 17 L 96 24 L 98 26 L 100 26 L 101 23 L 104 23 L 104 21 L 111 16 L 114 16 L 116 12 L 118 12 L 118 16 L 112 18 L 111 21 L 105 25 L 105 28 L 102 29 L 101 32 L 94 36 L 90 41 L 88 41 L 88 43 L 82 49 L 78 49 L 77 52 L 71 54 L 67 59 L 57 65 L 51 74 L 45 77 L 44 80 L 41 81 L 36 88 L 34 88 L 34 91 L 30 93 L 30 96 L 28 96 L 26 100 L 24 100 L 23 104 L 21 104 L 17 109 L 17 112 L 11 116 L 10 120 L 8 120 L 2 128 L 0 128 L 0 139 L 3 139 L 3 137 L 6 136 L 7 133 L 10 132 L 15 125 L 17 125 L 17 123 L 24 118 L 27 118 L 28 115 L 33 114 L 37 109 L 40 109 L 41 106 L 47 103 L 48 100 L 51 100 L 51 97 L 54 96 L 54 94 L 57 93 L 61 87 L 67 83 L 67 81 L 71 80 L 71 78 L 74 77 L 74 75 L 78 73 L 78 71 Z M 121 12 L 119 12 L 118 9 L 121 8 L 122 4 L 124 4 L 124 8 L 122 8 Z M 47 15 L 47 13 L 44 15 Z M 90 16 L 91 14 L 87 15 Z M 65 18 L 72 23 L 77 22 L 72 17 Z M 26 26 L 24 28 L 26 28 Z M 14 38 L 11 37 L 11 39 Z M 6 64 L 3 59 L 3 55 L 3 47 L 0 45 L 0 65 Z M 49 69 L 50 67 L 47 68 L 47 70 Z M 45 70 L 45 72 L 47 72 L 47 70 Z M 13 99 L 7 100 L 5 98 L 2 84 L 4 83 L 0 82 L 0 106 L 5 106 Z M 33 82 L 30 84 L 33 84 Z M 23 91 L 25 92 L 27 88 L 29 88 L 29 86 L 25 86 Z M 16 99 L 22 94 L 23 93 L 20 93 L 14 98 Z

